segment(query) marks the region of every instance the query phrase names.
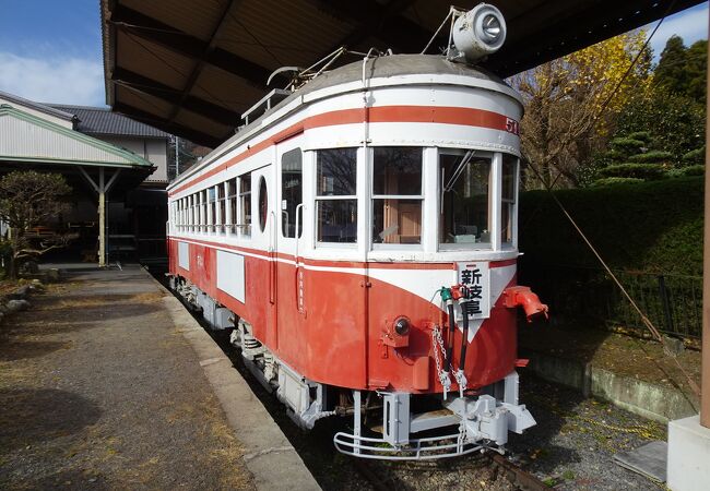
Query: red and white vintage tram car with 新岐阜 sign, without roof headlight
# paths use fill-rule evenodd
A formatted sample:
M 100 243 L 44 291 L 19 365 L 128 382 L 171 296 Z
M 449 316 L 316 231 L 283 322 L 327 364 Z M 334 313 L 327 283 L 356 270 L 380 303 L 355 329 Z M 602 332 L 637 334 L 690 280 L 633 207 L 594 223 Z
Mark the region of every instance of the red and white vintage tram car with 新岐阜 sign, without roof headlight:
M 520 96 L 390 55 L 282 97 L 168 188 L 171 287 L 299 424 L 352 415 L 341 452 L 461 455 L 534 424 L 516 310 L 546 307 L 516 283 Z

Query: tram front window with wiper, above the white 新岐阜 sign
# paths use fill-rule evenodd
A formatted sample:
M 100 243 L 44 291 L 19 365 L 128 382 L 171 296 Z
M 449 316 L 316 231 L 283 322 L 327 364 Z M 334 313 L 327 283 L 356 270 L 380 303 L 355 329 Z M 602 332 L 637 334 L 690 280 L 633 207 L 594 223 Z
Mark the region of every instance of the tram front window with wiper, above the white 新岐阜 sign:
M 490 248 L 489 155 L 476 151 L 439 154 L 439 243 L 445 249 Z

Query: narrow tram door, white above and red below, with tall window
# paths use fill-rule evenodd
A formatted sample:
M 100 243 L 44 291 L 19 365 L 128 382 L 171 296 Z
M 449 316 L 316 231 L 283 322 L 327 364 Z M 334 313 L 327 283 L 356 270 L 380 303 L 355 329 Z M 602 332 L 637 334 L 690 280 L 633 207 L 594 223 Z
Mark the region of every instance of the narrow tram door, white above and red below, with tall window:
M 276 147 L 279 161 L 277 188 L 277 230 L 279 255 L 276 264 L 276 297 L 279 336 L 288 339 L 282 343 L 280 352 L 291 360 L 299 360 L 306 352 L 303 331 L 303 268 L 299 262 L 299 246 L 303 251 L 304 229 L 304 173 L 300 137 L 282 142 Z M 300 275 L 300 278 L 299 278 Z M 301 286 L 299 287 L 299 279 Z M 301 333 L 301 335 L 299 335 Z

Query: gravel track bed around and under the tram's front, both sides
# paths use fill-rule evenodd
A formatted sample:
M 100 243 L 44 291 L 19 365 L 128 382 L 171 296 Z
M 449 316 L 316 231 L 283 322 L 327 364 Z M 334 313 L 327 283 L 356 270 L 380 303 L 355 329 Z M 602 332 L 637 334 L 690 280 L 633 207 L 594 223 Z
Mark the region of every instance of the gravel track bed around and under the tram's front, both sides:
M 345 419 L 321 420 L 310 432 L 300 431 L 283 406 L 253 380 L 228 346 L 224 333 L 215 339 L 235 362 L 324 490 L 376 489 L 353 458 L 333 448 L 332 435 L 347 429 Z M 537 426 L 510 434 L 509 458 L 560 490 L 656 489 L 652 481 L 613 463 L 617 452 L 665 440 L 665 427 L 596 399 L 584 399 L 567 387 L 521 373 L 521 400 Z M 426 463 L 363 464 L 387 488 L 400 490 L 514 490 L 488 459 L 477 455 Z M 662 489 L 662 488 L 661 488 Z

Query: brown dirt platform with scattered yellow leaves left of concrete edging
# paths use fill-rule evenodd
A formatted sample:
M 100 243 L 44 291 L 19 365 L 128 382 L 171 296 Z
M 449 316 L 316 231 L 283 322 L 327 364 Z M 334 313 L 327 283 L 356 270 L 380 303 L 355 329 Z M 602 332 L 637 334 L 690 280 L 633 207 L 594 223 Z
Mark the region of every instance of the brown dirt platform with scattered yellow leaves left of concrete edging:
M 0 488 L 253 489 L 163 294 L 111 273 L 74 274 L 0 325 Z

